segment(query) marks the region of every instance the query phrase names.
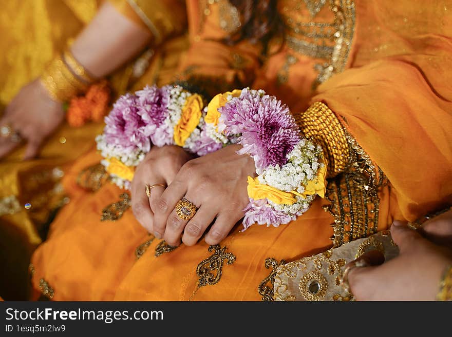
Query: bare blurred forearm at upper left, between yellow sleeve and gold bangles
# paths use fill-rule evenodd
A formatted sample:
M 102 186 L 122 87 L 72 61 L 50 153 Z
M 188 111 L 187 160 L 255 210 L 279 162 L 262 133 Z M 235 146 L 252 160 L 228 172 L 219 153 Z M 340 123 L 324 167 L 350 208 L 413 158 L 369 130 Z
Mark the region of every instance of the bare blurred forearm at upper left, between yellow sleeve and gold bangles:
M 105 3 L 79 34 L 70 50 L 94 77 L 102 77 L 136 55 L 152 40 L 152 33 Z

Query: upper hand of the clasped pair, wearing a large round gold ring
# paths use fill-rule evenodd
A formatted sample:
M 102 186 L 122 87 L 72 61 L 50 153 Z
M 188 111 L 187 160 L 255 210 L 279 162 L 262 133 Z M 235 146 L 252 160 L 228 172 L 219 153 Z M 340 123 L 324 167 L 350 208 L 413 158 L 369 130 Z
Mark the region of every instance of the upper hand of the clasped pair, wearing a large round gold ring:
M 254 160 L 238 155 L 238 145 L 229 145 L 214 153 L 187 162 L 160 199 L 152 200 L 154 231 L 172 246 L 180 241 L 193 246 L 205 235 L 210 245 L 219 243 L 239 221 L 248 205 L 247 176 L 255 175 Z M 193 219 L 184 221 L 175 206 L 185 197 L 197 207 Z

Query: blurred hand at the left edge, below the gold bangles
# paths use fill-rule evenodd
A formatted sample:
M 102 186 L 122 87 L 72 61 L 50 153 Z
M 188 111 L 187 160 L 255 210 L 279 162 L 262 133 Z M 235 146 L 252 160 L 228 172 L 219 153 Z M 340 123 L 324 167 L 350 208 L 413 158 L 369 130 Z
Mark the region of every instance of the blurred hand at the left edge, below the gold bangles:
M 8 126 L 27 142 L 24 159 L 30 159 L 63 119 L 63 105 L 53 101 L 40 80 L 35 80 L 23 87 L 6 107 L 0 127 Z M 0 137 L 0 158 L 18 144 L 13 137 Z

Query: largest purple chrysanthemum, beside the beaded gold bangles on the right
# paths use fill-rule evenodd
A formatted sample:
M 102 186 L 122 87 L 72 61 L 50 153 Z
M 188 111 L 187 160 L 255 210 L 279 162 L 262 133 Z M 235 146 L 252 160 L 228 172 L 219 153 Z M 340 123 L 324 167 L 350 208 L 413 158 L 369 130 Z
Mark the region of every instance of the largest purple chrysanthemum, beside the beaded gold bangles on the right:
M 269 165 L 283 166 L 298 143 L 298 127 L 286 105 L 274 96 L 243 89 L 220 108 L 220 122 L 228 135 L 240 134 L 240 154 L 248 153 L 258 171 Z

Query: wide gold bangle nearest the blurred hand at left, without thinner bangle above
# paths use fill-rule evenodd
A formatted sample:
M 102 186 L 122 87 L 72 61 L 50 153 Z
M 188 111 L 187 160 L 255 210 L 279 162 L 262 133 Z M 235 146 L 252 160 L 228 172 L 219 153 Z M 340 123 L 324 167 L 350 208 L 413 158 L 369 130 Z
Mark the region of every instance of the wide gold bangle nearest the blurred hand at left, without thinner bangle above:
M 52 99 L 58 102 L 67 102 L 88 88 L 69 70 L 61 57 L 50 62 L 41 81 Z

